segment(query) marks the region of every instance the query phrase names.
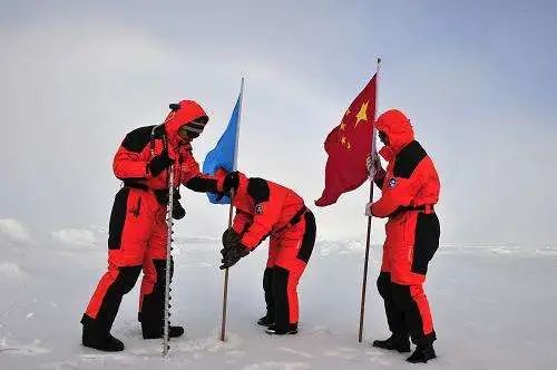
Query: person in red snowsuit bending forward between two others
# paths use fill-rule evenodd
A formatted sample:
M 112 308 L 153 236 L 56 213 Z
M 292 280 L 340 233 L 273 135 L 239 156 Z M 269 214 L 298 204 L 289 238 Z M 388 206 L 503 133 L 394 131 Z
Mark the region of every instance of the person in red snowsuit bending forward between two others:
M 268 334 L 297 333 L 297 283 L 315 244 L 315 217 L 300 195 L 273 182 L 229 173 L 224 192 L 234 189 L 236 215 L 223 234 L 223 265 L 228 269 L 271 235 L 263 273 L 266 314 L 257 323 Z

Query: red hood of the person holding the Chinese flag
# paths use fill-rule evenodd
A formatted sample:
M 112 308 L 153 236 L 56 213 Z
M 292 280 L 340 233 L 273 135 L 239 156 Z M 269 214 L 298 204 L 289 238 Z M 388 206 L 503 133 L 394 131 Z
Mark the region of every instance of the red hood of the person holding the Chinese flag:
M 398 109 L 387 110 L 378 117 L 374 125 L 378 132 L 385 133 L 389 138 L 389 145 L 380 152 L 387 160 L 391 160 L 400 149 L 414 139 L 414 132 L 410 119 Z

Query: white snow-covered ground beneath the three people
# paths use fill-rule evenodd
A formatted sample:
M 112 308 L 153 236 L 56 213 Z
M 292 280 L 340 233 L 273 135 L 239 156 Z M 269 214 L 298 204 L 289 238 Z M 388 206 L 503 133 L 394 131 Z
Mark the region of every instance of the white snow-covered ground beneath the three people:
M 12 230 L 12 228 L 10 228 Z M 6 233 L 4 233 L 6 234 Z M 25 231 L 17 233 L 27 234 Z M 12 235 L 13 236 L 13 235 Z M 2 241 L 0 254 L 0 369 L 405 369 L 404 356 L 370 345 L 388 334 L 374 286 L 380 249 L 373 247 L 365 342 L 358 343 L 363 244 L 319 241 L 301 282 L 301 330 L 268 337 L 262 270 L 266 246 L 231 270 L 228 335 L 217 340 L 223 274 L 216 240 L 178 240 L 173 322 L 186 335 L 140 338 L 137 290 L 124 298 L 113 333 L 126 350 L 106 354 L 80 345 L 79 320 L 104 272 L 102 231 L 66 230 L 51 243 Z M 427 291 L 439 340 L 438 369 L 557 368 L 557 249 L 442 246 Z

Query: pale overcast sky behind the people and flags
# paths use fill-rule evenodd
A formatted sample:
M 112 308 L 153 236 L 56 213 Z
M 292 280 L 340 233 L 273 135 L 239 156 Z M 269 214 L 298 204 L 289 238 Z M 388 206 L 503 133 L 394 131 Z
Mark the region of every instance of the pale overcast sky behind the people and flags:
M 381 56 L 379 111 L 404 110 L 438 167 L 443 242 L 557 242 L 555 1 L 0 4 L 0 217 L 37 235 L 107 227 L 115 150 L 172 101 L 209 115 L 202 163 L 242 77 L 240 169 L 313 205 L 323 140 Z M 319 235 L 363 237 L 368 192 L 313 207 Z M 180 236 L 219 237 L 226 208 L 183 194 Z

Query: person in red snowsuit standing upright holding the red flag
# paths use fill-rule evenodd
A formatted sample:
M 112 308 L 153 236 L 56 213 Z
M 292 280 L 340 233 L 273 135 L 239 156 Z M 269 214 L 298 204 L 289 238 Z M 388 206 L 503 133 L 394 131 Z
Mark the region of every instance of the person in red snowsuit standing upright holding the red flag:
M 439 176 L 431 158 L 414 140 L 404 114 L 388 110 L 374 124 L 384 144 L 380 154 L 389 165 L 384 171 L 379 158 L 369 159 L 371 175 L 382 194 L 367 205 L 365 212 L 389 218 L 378 289 L 392 335 L 375 340 L 373 347 L 410 352 L 410 337 L 417 348 L 407 360 L 427 362 L 436 358 L 437 337 L 423 282 L 439 246 L 439 220 L 433 210 L 439 201 Z

